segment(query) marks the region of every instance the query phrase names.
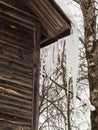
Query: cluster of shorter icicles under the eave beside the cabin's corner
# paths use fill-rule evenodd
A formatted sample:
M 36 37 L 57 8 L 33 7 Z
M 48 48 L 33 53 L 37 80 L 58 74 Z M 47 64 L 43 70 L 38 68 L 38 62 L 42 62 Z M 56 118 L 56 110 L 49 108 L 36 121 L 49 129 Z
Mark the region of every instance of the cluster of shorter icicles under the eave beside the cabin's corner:
M 40 59 L 41 59 L 41 74 L 43 73 L 43 65 L 45 65 L 47 75 L 53 76 L 53 72 L 56 69 L 57 62 L 58 62 L 58 53 L 59 53 L 59 46 L 58 43 L 55 42 L 49 46 L 46 46 L 41 49 L 40 52 Z

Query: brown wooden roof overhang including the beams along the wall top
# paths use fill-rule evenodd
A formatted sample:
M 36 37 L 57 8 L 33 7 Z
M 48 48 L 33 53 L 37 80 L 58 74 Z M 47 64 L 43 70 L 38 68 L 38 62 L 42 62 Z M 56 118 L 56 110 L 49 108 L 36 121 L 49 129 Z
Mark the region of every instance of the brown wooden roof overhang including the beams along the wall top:
M 34 22 L 40 23 L 41 47 L 70 34 L 71 22 L 55 0 L 1 0 L 0 9 L 1 21 L 9 21 L 9 26 L 14 22 L 31 30 Z

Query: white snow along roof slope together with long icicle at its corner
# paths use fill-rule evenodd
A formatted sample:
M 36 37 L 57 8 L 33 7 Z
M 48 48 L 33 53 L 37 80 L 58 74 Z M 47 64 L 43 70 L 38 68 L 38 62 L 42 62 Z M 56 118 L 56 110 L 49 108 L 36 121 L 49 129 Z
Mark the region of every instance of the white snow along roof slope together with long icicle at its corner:
M 73 80 L 73 102 L 76 107 L 76 86 L 78 77 L 78 56 L 79 56 L 79 33 L 77 23 L 71 12 L 70 7 L 65 0 L 55 0 L 60 8 L 65 12 L 66 16 L 71 21 L 71 34 L 65 38 L 66 40 L 66 70 L 67 70 L 67 86 L 72 77 Z M 67 88 L 68 89 L 68 88 Z

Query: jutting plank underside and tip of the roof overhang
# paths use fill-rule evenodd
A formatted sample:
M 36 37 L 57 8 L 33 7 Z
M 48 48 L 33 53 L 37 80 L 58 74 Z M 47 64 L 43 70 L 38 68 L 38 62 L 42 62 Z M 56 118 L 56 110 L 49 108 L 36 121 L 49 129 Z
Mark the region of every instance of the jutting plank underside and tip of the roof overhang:
M 71 22 L 54 0 L 21 0 L 39 17 L 41 47 L 70 34 Z

